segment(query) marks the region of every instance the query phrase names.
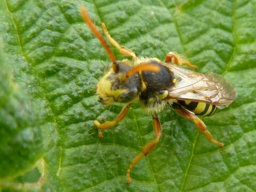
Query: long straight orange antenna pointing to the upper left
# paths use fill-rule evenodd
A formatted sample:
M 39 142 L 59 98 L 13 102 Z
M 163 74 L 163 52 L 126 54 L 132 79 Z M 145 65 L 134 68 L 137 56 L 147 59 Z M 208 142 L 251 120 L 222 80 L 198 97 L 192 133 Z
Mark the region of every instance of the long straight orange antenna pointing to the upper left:
M 97 27 L 93 24 L 91 18 L 89 17 L 88 12 L 86 11 L 84 6 L 80 7 L 80 11 L 82 13 L 83 19 L 84 21 L 87 23 L 87 25 L 89 26 L 89 28 L 91 29 L 92 33 L 95 35 L 95 37 L 97 37 L 100 41 L 100 43 L 102 44 L 102 46 L 105 48 L 105 50 L 107 51 L 108 57 L 109 59 L 113 62 L 113 70 L 115 71 L 115 73 L 117 73 L 117 67 L 116 67 L 116 58 L 115 55 L 113 54 L 113 52 L 111 51 L 110 47 L 108 46 L 105 38 L 102 36 L 102 34 L 100 33 L 100 31 L 97 29 Z

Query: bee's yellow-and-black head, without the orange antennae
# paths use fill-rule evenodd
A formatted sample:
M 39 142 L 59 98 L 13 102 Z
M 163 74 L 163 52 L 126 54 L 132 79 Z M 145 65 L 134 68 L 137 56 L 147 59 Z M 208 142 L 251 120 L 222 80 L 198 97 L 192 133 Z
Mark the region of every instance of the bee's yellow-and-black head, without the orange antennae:
M 141 90 L 141 79 L 138 73 L 127 77 L 125 81 L 122 80 L 132 67 L 121 61 L 116 61 L 115 65 L 116 71 L 113 67 L 109 68 L 96 85 L 99 101 L 105 105 L 112 102 L 130 102 L 138 97 Z

